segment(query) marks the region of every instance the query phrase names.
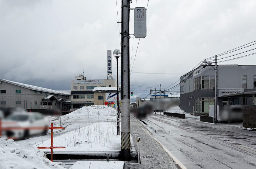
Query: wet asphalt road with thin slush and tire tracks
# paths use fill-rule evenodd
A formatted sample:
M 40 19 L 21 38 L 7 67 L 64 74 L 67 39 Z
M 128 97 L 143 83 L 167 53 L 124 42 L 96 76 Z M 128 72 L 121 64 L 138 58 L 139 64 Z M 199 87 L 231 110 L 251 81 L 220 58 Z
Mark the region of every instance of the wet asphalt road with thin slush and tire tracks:
M 256 132 L 241 129 L 242 123 L 210 124 L 188 116 L 153 114 L 141 123 L 187 168 L 256 168 Z

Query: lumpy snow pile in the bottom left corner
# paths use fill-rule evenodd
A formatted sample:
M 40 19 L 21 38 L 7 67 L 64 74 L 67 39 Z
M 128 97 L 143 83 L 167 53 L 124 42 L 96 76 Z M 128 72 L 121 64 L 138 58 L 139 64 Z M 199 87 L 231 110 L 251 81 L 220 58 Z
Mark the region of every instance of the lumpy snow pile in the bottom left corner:
M 16 144 L 12 139 L 0 139 L 0 169 L 7 168 L 57 168 L 57 163 L 51 162 L 44 157 L 44 152 L 37 147 L 30 145 L 29 142 Z

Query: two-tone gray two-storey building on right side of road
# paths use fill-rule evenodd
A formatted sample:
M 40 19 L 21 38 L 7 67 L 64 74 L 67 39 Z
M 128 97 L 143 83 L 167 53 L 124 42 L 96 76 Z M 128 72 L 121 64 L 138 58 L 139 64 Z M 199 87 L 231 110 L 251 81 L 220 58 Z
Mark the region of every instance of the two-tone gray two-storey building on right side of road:
M 200 66 L 180 77 L 180 108 L 185 112 L 208 113 L 214 105 L 214 66 Z M 256 65 L 217 66 L 217 104 L 254 105 Z

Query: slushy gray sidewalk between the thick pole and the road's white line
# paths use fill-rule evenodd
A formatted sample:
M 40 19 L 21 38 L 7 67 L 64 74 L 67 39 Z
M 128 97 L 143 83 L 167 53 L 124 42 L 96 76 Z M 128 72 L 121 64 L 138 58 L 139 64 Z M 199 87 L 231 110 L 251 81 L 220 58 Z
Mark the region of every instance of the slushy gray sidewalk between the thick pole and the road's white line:
M 141 164 L 125 164 L 126 169 L 133 168 L 180 168 L 169 154 L 145 131 L 144 126 L 131 116 L 131 137 L 137 149 L 136 137 L 140 137 Z

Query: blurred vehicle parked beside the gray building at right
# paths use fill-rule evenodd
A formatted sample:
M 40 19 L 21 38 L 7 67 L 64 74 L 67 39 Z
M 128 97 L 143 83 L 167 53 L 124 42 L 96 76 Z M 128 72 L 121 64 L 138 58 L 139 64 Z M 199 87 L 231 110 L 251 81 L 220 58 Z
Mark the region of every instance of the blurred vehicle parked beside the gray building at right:
M 219 112 L 219 118 L 222 122 L 239 122 L 243 120 L 243 114 L 242 105 L 229 105 Z

